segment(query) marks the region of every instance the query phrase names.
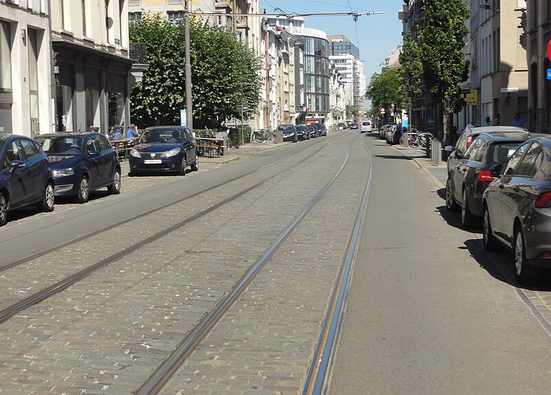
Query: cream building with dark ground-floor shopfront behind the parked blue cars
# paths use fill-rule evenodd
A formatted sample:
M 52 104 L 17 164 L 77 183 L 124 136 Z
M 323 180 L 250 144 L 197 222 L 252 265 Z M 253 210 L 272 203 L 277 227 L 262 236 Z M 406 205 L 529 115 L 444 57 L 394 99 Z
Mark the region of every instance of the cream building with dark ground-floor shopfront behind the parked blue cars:
M 127 0 L 51 0 L 57 131 L 129 125 Z

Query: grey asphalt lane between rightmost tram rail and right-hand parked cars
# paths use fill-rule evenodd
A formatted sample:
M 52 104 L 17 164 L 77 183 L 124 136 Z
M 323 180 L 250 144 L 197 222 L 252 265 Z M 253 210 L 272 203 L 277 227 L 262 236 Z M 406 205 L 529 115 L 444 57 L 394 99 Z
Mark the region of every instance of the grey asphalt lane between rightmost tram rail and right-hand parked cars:
M 373 191 L 331 394 L 548 394 L 541 299 L 460 228 L 439 182 L 369 139 Z

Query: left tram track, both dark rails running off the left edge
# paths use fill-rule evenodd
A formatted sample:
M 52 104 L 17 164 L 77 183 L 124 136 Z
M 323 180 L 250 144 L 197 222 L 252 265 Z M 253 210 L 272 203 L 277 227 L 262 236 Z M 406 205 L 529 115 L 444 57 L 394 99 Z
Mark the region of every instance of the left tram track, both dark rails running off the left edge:
M 140 242 L 133 243 L 132 245 L 127 246 L 123 250 L 118 251 L 117 253 L 114 253 L 112 255 L 109 255 L 108 257 L 105 257 L 104 259 L 101 259 L 100 261 L 96 262 L 95 264 L 87 266 L 83 270 L 77 271 L 76 273 L 74 273 L 74 274 L 72 274 L 68 277 L 65 277 L 64 279 L 61 279 L 61 281 L 56 281 L 54 284 L 51 284 L 50 286 L 47 286 L 47 287 L 39 290 L 38 292 L 34 292 L 34 293 L 32 293 L 32 295 L 30 295 L 28 297 L 25 297 L 25 298 L 17 301 L 16 303 L 11 303 L 10 306 L 0 310 L 0 323 L 4 323 L 8 319 L 10 319 L 10 317 L 13 317 L 15 314 L 18 314 L 19 312 L 22 312 L 23 310 L 25 310 L 25 309 L 27 309 L 31 306 L 34 306 L 35 304 L 40 303 L 41 301 L 44 301 L 45 299 L 48 299 L 49 297 L 52 297 L 53 295 L 56 295 L 57 293 L 69 288 L 70 286 L 76 284 L 77 282 L 85 279 L 86 277 L 88 277 L 89 275 L 94 273 L 96 270 L 98 270 L 100 268 L 103 268 L 103 267 L 111 264 L 112 262 L 117 261 L 118 259 L 121 259 L 122 257 L 125 257 L 127 255 L 130 255 L 130 254 L 134 253 L 136 250 L 139 250 L 140 248 L 142 248 L 143 246 L 145 246 L 147 244 L 156 242 L 158 239 L 161 239 L 162 237 L 165 237 L 165 235 L 168 235 L 169 233 L 175 231 L 176 229 L 182 228 L 183 226 L 185 226 L 187 224 L 190 224 L 191 222 L 195 222 L 196 220 L 199 220 L 201 217 L 204 217 L 205 215 L 207 215 L 207 214 L 209 214 L 213 211 L 216 211 L 217 209 L 220 209 L 220 207 L 225 206 L 226 204 L 229 204 L 230 202 L 236 201 L 238 199 L 238 197 L 241 197 L 242 195 L 245 195 L 246 193 L 249 193 L 249 192 L 251 192 L 255 189 L 258 189 L 258 187 L 260 187 L 264 184 L 267 184 L 271 180 L 274 180 L 275 178 L 277 178 L 279 175 L 282 175 L 282 174 L 284 174 L 288 171 L 291 171 L 295 167 L 300 167 L 301 164 L 303 164 L 307 160 L 310 160 L 312 158 L 312 156 L 315 155 L 315 153 L 318 153 L 318 152 L 322 151 L 322 149 L 326 148 L 331 143 L 332 143 L 332 141 L 327 142 L 322 147 L 318 147 L 318 149 L 313 151 L 313 153 L 311 153 L 310 156 L 306 156 L 302 160 L 291 164 L 291 166 L 286 167 L 285 169 L 282 169 L 281 171 L 278 171 L 277 173 L 271 175 L 269 178 L 261 180 L 260 182 L 256 182 L 255 184 L 247 187 L 246 189 L 244 189 L 244 190 L 242 190 L 238 193 L 235 193 L 235 194 L 225 198 L 224 200 L 221 200 L 220 202 L 218 202 L 216 204 L 211 204 L 211 206 L 209 206 L 207 209 L 203 209 L 202 211 L 200 211 L 200 212 L 198 212 L 194 215 L 191 215 L 191 216 L 185 218 L 184 220 L 176 222 L 176 224 L 173 224 L 172 226 L 169 226 L 168 228 L 165 228 L 165 229 L 163 229 L 163 231 L 157 232 L 154 235 L 146 237 L 145 239 L 141 240 Z M 296 154 L 293 154 L 293 155 L 296 155 Z M 264 166 L 260 169 L 257 169 L 256 171 L 259 171 L 261 169 L 265 169 L 267 167 L 271 167 L 274 164 L 282 162 L 282 160 L 286 160 L 286 159 L 291 158 L 293 155 L 287 156 L 286 158 L 282 158 L 282 159 L 280 159 L 276 162 L 268 164 L 267 166 Z M 153 215 L 153 214 L 158 213 L 159 211 L 161 211 L 163 209 L 167 209 L 171 206 L 176 206 L 178 204 L 181 204 L 182 202 L 185 202 L 187 200 L 191 200 L 191 198 L 193 198 L 193 197 L 197 197 L 199 195 L 202 195 L 202 194 L 205 194 L 207 192 L 218 189 L 222 186 L 226 186 L 227 184 L 229 184 L 231 182 L 235 182 L 236 180 L 240 180 L 242 178 L 245 178 L 245 177 L 247 177 L 247 175 L 251 175 L 251 173 L 254 173 L 254 172 L 255 171 L 251 171 L 250 173 L 246 173 L 244 175 L 241 175 L 240 177 L 233 178 L 233 179 L 228 180 L 226 182 L 223 182 L 222 184 L 219 184 L 217 186 L 212 186 L 211 188 L 206 189 L 205 191 L 201 191 L 199 193 L 195 193 L 194 195 L 183 197 L 180 200 L 176 200 L 175 202 L 170 202 L 170 203 L 164 204 L 163 206 L 160 206 L 156 209 L 149 210 L 145 213 L 141 213 L 139 215 L 134 215 L 133 217 L 130 217 L 127 220 L 118 222 L 116 224 L 112 224 L 110 226 L 106 226 L 105 228 L 102 228 L 98 231 L 94 231 L 92 233 L 88 233 L 87 235 L 77 237 L 76 239 L 73 239 L 69 242 L 63 243 L 59 246 L 52 247 L 52 248 L 50 248 L 48 250 L 45 250 L 41 253 L 30 255 L 29 257 L 25 257 L 23 259 L 19 259 L 18 261 L 13 262 L 12 264 L 2 266 L 0 268 L 0 273 L 3 272 L 3 271 L 6 271 L 8 269 L 17 268 L 17 266 L 21 266 L 25 263 L 28 263 L 29 261 L 32 261 L 33 259 L 37 259 L 37 257 L 43 257 L 45 254 L 54 253 L 55 251 L 61 250 L 63 248 L 67 248 L 68 246 L 72 246 L 73 244 L 81 242 L 81 241 L 83 241 L 85 239 L 88 239 L 90 237 L 93 237 L 95 235 L 101 235 L 101 233 L 111 231 L 111 230 L 113 230 L 117 227 L 120 227 L 120 226 L 124 225 L 124 224 L 129 224 L 130 222 L 132 222 L 134 220 L 137 220 L 138 218 L 142 219 L 145 215 Z

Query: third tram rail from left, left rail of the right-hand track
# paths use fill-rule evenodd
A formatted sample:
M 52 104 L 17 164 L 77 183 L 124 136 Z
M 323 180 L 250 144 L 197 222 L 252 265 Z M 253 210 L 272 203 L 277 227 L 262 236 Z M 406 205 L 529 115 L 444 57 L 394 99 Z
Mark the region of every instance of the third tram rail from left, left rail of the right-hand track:
M 333 178 L 324 186 L 324 188 L 309 202 L 308 206 L 295 218 L 292 224 L 290 224 L 284 231 L 282 231 L 280 237 L 271 244 L 266 252 L 253 264 L 247 273 L 241 277 L 241 279 L 234 285 L 227 295 L 221 299 L 216 306 L 207 314 L 202 320 L 193 328 L 189 334 L 183 339 L 183 341 L 176 347 L 176 349 L 168 356 L 165 361 L 159 365 L 159 367 L 153 372 L 151 376 L 143 383 L 143 385 L 136 392 L 137 395 L 145 394 L 159 394 L 165 385 L 169 382 L 172 376 L 178 371 L 180 366 L 189 358 L 189 356 L 196 350 L 198 344 L 205 339 L 207 334 L 214 328 L 214 325 L 220 321 L 226 312 L 231 308 L 233 303 L 240 297 L 242 292 L 251 284 L 251 281 L 260 273 L 262 268 L 270 261 L 271 257 L 278 252 L 282 244 L 287 240 L 289 235 L 295 230 L 295 228 L 304 220 L 304 217 L 310 213 L 316 203 L 322 198 L 326 191 L 333 185 L 335 180 L 342 173 L 346 163 L 349 160 L 350 152 L 346 155 L 344 162 L 340 169 L 335 173 Z

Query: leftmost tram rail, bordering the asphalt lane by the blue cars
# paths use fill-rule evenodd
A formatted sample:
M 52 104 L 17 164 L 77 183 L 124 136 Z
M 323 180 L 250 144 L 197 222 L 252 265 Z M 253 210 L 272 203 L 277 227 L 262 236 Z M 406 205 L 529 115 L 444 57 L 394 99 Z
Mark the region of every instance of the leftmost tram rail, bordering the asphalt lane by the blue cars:
M 318 148 L 317 150 L 315 150 L 311 155 L 314 155 L 315 153 L 318 153 L 319 151 L 321 151 L 322 149 L 324 149 L 325 147 L 327 147 L 328 145 L 330 145 L 331 143 L 333 142 L 333 140 L 331 140 L 330 142 L 327 142 L 326 145 L 324 145 L 323 147 L 320 147 Z M 145 215 L 150 215 L 150 214 L 153 214 L 153 213 L 156 213 L 157 211 L 161 211 L 163 209 L 167 209 L 167 207 L 170 207 L 170 206 L 174 206 L 176 204 L 180 204 L 181 202 L 185 202 L 186 200 L 189 200 L 189 199 L 192 199 L 194 197 L 197 197 L 198 195 L 202 194 L 202 193 L 207 193 L 209 191 L 212 191 L 214 189 L 217 189 L 217 188 L 220 188 L 221 186 L 225 186 L 227 184 L 229 184 L 230 182 L 233 182 L 233 181 L 237 181 L 237 180 L 240 180 L 241 178 L 245 178 L 247 177 L 247 175 L 251 175 L 252 173 L 255 173 L 256 171 L 259 171 L 259 170 L 262 170 L 262 169 L 266 169 L 267 167 L 270 167 L 270 166 L 273 166 L 274 164 L 277 164 L 279 162 L 282 162 L 283 160 L 286 160 L 288 158 L 291 158 L 292 156 L 294 155 L 297 155 L 298 153 L 293 153 L 289 156 L 286 156 L 284 158 L 281 158 L 280 160 L 276 160 L 275 162 L 272 162 L 270 164 L 267 164 L 266 166 L 263 166 L 263 167 L 260 167 L 259 169 L 256 169 L 256 170 L 252 170 L 252 171 L 249 171 L 249 173 L 245 173 L 243 175 L 240 175 L 236 178 L 231 178 L 231 180 L 227 180 L 225 182 L 222 182 L 222 184 L 218 184 L 218 185 L 214 185 L 214 186 L 211 186 L 210 188 L 207 188 L 203 191 L 199 191 L 197 193 L 194 193 L 193 195 L 189 195 L 189 196 L 186 196 L 186 197 L 183 197 L 181 199 L 178 199 L 174 202 L 170 202 L 170 203 L 167 203 L 167 204 L 163 204 L 162 206 L 158 206 L 156 207 L 155 209 L 151 209 L 149 211 L 144 211 L 143 213 L 139 213 L 137 215 L 134 215 L 132 217 L 129 217 L 127 218 L 126 220 L 123 220 L 123 221 L 120 221 L 120 222 L 116 222 L 115 224 L 111 224 L 109 226 L 105 226 L 104 228 L 101 228 L 101 229 L 98 229 L 97 231 L 94 231 L 94 232 L 90 232 L 90 233 L 86 233 L 85 235 L 82 235 L 82 236 L 79 236 L 79 237 L 76 237 L 75 239 L 71 239 L 67 242 L 64 242 L 62 244 L 59 244 L 57 246 L 54 246 L 52 248 L 48 248 L 46 250 L 43 250 L 43 251 L 40 251 L 39 253 L 35 253 L 35 254 L 32 254 L 32 255 L 29 255 L 28 257 L 24 257 L 24 258 L 21 258 L 21 259 L 18 259 L 17 261 L 13 261 L 11 262 L 10 264 L 6 264 L 4 266 L 0 266 L 0 273 L 2 273 L 3 271 L 5 270 L 8 270 L 10 268 L 14 268 L 15 266 L 19 266 L 21 264 L 25 264 L 26 262 L 28 261 L 32 261 L 32 259 L 37 259 L 38 257 L 42 257 L 43 255 L 45 254 L 49 254 L 49 253 L 53 253 L 54 251 L 56 250 L 61 250 L 61 248 L 65 248 L 67 246 L 70 246 L 72 244 L 76 244 L 78 242 L 82 242 L 84 239 L 87 239 L 88 237 L 93 237 L 93 236 L 96 236 L 96 235 L 100 235 L 101 233 L 104 233 L 104 232 L 107 232 L 107 231 L 110 231 L 111 229 L 113 228 L 116 228 L 117 226 L 121 226 L 121 225 L 124 225 L 124 224 L 127 224 L 129 222 L 132 222 L 134 220 L 138 220 L 139 218 L 143 218 Z M 302 163 L 304 162 L 304 160 L 306 160 L 307 158 L 304 158 L 303 160 L 300 160 L 299 162 L 297 162 L 296 164 L 299 164 L 299 163 Z M 295 165 L 296 165 L 295 164 Z

